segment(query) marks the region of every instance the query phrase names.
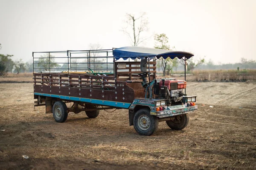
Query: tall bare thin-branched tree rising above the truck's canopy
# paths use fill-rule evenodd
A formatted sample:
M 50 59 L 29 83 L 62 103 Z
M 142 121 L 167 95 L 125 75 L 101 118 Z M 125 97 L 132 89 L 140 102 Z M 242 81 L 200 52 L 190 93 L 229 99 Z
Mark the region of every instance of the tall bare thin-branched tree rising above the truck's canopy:
M 148 37 L 142 36 L 143 32 L 148 31 L 148 18 L 146 17 L 145 12 L 139 17 L 135 17 L 134 14 L 126 14 L 125 23 L 126 27 L 122 28 L 122 32 L 128 35 L 133 46 L 138 46 L 148 39 Z

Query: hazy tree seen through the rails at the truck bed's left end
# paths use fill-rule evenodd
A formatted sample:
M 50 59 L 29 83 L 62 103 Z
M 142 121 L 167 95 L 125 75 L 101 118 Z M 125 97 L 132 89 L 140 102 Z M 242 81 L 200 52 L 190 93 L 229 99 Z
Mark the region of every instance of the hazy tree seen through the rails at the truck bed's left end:
M 42 69 L 44 69 L 45 71 L 49 71 L 49 69 L 54 69 L 54 68 L 59 68 L 60 65 L 55 63 L 55 56 L 53 55 L 41 55 L 39 60 L 38 60 L 38 64 L 37 64 L 37 68 L 40 68 L 39 70 L 41 71 Z

